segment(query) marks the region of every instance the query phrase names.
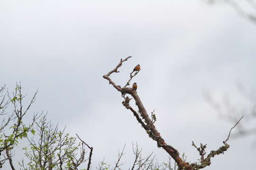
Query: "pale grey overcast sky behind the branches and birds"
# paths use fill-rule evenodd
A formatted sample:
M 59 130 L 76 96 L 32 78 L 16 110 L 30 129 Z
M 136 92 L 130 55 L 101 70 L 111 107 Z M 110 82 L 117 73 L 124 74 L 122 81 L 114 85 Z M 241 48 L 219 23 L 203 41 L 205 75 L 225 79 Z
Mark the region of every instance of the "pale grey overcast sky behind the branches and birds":
M 132 142 L 145 156 L 154 151 L 159 162 L 167 160 L 122 106 L 120 93 L 102 78 L 121 58 L 132 56 L 111 78 L 123 86 L 141 65 L 133 80 L 137 93 L 148 112 L 155 110 L 155 126 L 167 144 L 188 161 L 199 159 L 192 140 L 207 144 L 207 151 L 217 149 L 233 126 L 219 119 L 203 93 L 242 103 L 236 83 L 256 85 L 256 25 L 224 4 L 5 0 L 0 25 L 0 85 L 11 91 L 21 81 L 28 96 L 39 88 L 30 114 L 48 111 L 48 119 L 79 134 L 94 147 L 93 168 L 103 158 L 113 165 L 126 144 L 128 169 Z M 213 158 L 206 170 L 251 168 L 253 139 L 230 140 L 229 151 Z

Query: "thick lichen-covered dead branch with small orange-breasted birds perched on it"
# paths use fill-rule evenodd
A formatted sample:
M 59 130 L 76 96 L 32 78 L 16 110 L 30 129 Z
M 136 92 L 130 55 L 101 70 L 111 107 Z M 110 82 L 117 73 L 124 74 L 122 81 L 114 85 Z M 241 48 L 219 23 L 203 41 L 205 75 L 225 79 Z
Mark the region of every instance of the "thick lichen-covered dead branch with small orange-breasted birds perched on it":
M 128 57 L 130 58 L 130 57 Z M 198 148 L 193 142 L 192 145 L 194 147 L 196 147 L 196 149 L 199 151 L 199 154 L 201 155 L 201 162 L 200 164 L 198 163 L 188 163 L 186 162 L 183 158 L 181 158 L 179 156 L 179 152 L 177 149 L 175 149 L 173 146 L 166 144 L 165 140 L 163 139 L 163 137 L 160 135 L 160 133 L 157 131 L 154 122 L 156 120 L 155 118 L 155 114 L 154 111 L 151 112 L 151 119 L 149 118 L 149 115 L 147 114 L 147 111 L 144 107 L 144 105 L 142 104 L 137 92 L 135 90 L 133 90 L 130 87 L 127 87 L 127 85 L 129 85 L 129 81 L 131 80 L 131 78 L 133 77 L 132 75 L 130 75 L 130 79 L 128 80 L 127 85 L 125 85 L 123 88 L 121 88 L 119 85 L 116 85 L 111 79 L 110 79 L 110 75 L 113 72 L 118 72 L 117 69 L 121 66 L 122 62 L 127 60 L 128 58 L 124 59 L 124 60 L 120 60 L 119 64 L 117 65 L 116 68 L 114 68 L 113 70 L 111 70 L 108 74 L 104 75 L 103 78 L 107 79 L 109 81 L 109 83 L 111 85 L 113 85 L 119 92 L 121 92 L 122 97 L 124 97 L 125 94 L 130 94 L 133 99 L 135 100 L 135 103 L 138 107 L 138 113 L 137 111 L 135 111 L 128 102 L 122 102 L 123 105 L 128 109 L 131 110 L 134 114 L 134 116 L 136 117 L 137 121 L 141 124 L 141 126 L 146 130 L 146 133 L 148 134 L 148 136 L 150 138 L 152 138 L 153 140 L 156 141 L 157 146 L 158 147 L 162 147 L 176 162 L 178 169 L 179 170 L 198 170 L 198 169 L 202 169 L 206 166 L 210 165 L 210 159 L 212 157 L 214 157 L 215 155 L 219 155 L 220 153 L 224 153 L 225 151 L 227 151 L 227 149 L 229 148 L 229 144 L 227 144 L 226 142 L 229 139 L 230 136 L 230 132 L 231 130 L 238 124 L 232 127 L 229 131 L 229 136 L 228 139 L 226 141 L 223 141 L 224 145 L 221 146 L 218 150 L 216 151 L 211 151 L 206 158 L 204 158 L 205 156 L 205 148 L 206 148 L 206 144 L 203 145 L 201 144 L 200 148 Z M 136 74 L 134 74 L 134 76 L 136 76 Z M 242 118 L 241 118 L 242 119 Z M 137 155 L 137 154 L 136 154 Z M 137 157 L 135 157 L 135 162 L 133 164 L 132 170 L 134 169 L 134 166 L 136 164 L 137 161 Z M 151 165 L 150 165 L 151 166 Z M 151 166 L 152 167 L 152 166 Z M 147 167 L 148 168 L 148 167 Z

